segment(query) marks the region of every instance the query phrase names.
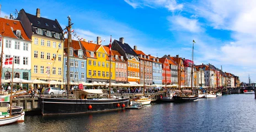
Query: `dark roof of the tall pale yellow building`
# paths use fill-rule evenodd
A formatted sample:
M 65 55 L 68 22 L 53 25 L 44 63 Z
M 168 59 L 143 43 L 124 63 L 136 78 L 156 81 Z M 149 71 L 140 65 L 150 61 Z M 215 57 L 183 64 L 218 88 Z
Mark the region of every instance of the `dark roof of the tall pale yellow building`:
M 29 13 L 26 13 L 26 16 L 28 17 L 30 23 L 32 23 L 32 26 L 40 27 L 41 29 L 46 29 L 46 30 L 54 31 L 54 32 L 58 32 L 58 33 L 63 32 L 60 24 L 58 24 L 57 19 L 51 20 L 51 19 L 42 18 L 42 17 L 38 18 L 38 17 L 36 17 L 36 15 L 32 15 Z

